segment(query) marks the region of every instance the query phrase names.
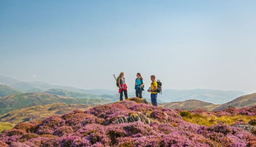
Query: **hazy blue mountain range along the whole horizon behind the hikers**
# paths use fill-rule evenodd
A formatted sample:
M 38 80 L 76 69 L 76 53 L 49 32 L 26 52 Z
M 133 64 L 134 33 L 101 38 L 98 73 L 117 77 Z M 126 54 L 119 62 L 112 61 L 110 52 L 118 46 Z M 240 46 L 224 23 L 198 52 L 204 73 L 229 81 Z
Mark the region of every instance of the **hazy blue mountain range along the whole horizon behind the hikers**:
M 69 86 L 54 86 L 44 82 L 21 82 L 16 79 L 8 78 L 5 76 L 0 76 L 0 83 L 16 88 L 23 92 L 44 92 L 49 89 L 60 89 L 67 90 L 71 92 L 78 92 L 84 94 L 92 95 L 117 95 L 117 91 L 93 89 L 93 90 L 83 90 L 75 87 Z M 135 92 L 128 93 L 129 96 L 134 97 Z M 222 90 L 208 90 L 208 89 L 193 89 L 193 90 L 163 90 L 162 95 L 158 95 L 159 102 L 180 102 L 189 99 L 201 100 L 213 104 L 223 104 L 227 103 L 239 96 L 246 95 L 242 91 L 222 91 Z M 118 100 L 118 96 L 116 99 Z M 150 93 L 144 91 L 143 97 L 150 100 Z

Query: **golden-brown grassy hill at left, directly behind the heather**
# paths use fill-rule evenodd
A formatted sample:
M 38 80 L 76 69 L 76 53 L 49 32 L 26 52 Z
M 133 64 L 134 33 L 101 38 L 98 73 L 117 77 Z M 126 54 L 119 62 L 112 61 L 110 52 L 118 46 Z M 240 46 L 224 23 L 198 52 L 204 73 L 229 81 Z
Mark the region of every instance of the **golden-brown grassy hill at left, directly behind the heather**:
M 80 109 L 84 111 L 91 107 L 93 106 L 84 104 L 67 105 L 65 103 L 37 105 L 33 107 L 20 108 L 8 112 L 7 114 L 1 115 L 0 122 L 9 122 L 16 124 L 19 122 L 28 122 L 30 120 L 42 120 L 54 114 L 62 115 L 75 109 Z

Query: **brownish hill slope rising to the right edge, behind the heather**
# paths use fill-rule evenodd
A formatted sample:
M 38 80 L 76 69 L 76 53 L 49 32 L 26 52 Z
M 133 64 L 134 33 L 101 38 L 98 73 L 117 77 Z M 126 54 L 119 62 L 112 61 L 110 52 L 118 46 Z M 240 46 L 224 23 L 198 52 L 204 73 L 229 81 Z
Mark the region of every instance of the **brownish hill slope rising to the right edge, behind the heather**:
M 229 106 L 233 106 L 236 108 L 242 107 L 253 107 L 256 105 L 256 93 L 240 96 L 230 102 L 222 104 L 221 106 L 215 108 L 213 111 L 223 110 L 228 108 Z

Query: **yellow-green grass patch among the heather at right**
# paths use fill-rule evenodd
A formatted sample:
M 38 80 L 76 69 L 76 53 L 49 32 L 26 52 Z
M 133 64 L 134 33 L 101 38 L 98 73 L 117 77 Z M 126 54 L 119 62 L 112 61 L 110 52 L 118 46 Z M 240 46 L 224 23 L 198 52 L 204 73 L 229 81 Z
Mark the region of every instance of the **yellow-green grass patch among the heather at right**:
M 236 116 L 217 117 L 215 115 L 209 116 L 207 114 L 187 114 L 187 113 L 184 113 L 184 111 L 181 112 L 180 115 L 182 116 L 182 119 L 187 122 L 195 123 L 198 125 L 204 125 L 204 126 L 213 126 L 219 123 L 231 125 L 233 123 L 238 122 L 239 120 L 243 120 L 243 122 L 248 123 L 250 120 L 256 119 L 256 116 L 236 115 Z

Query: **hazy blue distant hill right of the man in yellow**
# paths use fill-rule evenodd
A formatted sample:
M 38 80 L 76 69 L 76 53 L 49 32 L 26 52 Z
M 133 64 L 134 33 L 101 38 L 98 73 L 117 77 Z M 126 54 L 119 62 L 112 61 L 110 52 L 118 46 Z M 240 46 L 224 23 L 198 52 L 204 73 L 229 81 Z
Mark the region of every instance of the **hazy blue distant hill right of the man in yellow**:
M 150 98 L 148 92 L 146 96 Z M 238 96 L 245 95 L 242 91 L 222 91 L 222 90 L 163 90 L 162 95 L 158 96 L 163 102 L 177 102 L 189 99 L 201 100 L 203 102 L 223 104 L 229 102 Z

